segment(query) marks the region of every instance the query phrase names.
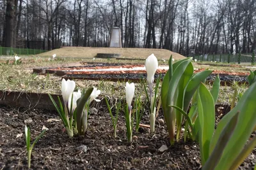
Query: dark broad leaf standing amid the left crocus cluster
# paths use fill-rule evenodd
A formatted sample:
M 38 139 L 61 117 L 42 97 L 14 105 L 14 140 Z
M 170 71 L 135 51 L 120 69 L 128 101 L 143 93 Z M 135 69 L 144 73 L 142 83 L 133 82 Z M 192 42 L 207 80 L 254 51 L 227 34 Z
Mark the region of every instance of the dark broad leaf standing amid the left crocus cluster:
M 86 90 L 84 96 L 82 96 L 80 99 L 77 99 L 77 107 L 76 107 L 76 123 L 77 123 L 77 131 L 79 134 L 81 134 L 82 129 L 82 118 L 83 118 L 83 110 L 86 102 L 90 98 L 91 94 L 93 92 L 93 87 L 90 87 Z

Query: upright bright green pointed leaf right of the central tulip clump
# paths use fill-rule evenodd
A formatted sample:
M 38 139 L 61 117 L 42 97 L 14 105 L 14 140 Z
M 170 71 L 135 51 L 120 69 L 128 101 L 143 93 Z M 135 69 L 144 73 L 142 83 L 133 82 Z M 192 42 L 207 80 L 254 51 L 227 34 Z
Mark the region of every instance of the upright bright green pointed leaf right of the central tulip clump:
M 199 129 L 199 144 L 202 165 L 204 166 L 209 157 L 209 148 L 214 132 L 215 125 L 215 108 L 211 92 L 201 83 L 198 89 L 198 120 Z

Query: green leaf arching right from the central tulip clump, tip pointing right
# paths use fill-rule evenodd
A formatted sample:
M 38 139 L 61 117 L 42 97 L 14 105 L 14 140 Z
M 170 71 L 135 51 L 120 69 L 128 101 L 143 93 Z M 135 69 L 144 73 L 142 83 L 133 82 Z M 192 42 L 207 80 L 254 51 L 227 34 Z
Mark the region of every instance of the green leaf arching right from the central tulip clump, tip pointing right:
M 212 70 L 205 70 L 199 73 L 196 73 L 188 83 L 188 87 L 186 87 L 186 92 L 184 94 L 184 111 L 188 111 L 189 103 L 195 94 L 196 89 L 198 89 L 201 82 L 204 83 L 205 78 L 212 73 Z

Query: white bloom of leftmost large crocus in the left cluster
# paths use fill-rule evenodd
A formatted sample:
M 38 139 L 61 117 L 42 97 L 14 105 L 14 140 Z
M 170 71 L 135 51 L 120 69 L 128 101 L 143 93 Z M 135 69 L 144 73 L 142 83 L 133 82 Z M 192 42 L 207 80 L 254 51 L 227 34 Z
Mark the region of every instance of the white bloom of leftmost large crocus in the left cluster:
M 61 92 L 65 105 L 67 106 L 69 96 L 71 96 L 72 92 L 76 87 L 75 81 L 65 80 L 64 78 L 61 81 Z

